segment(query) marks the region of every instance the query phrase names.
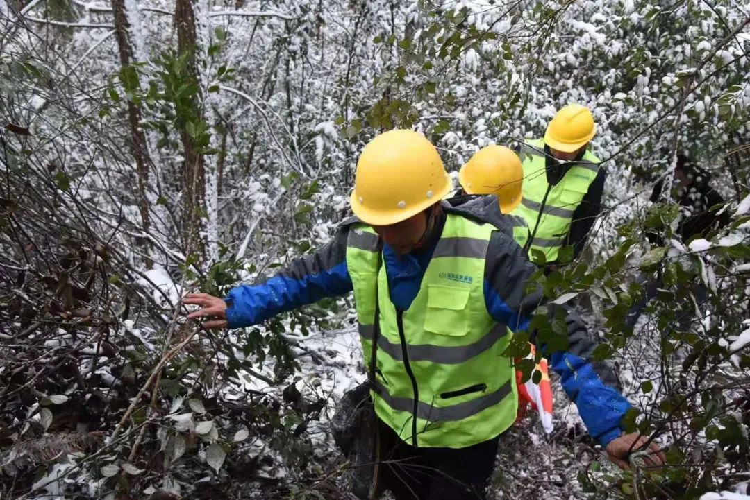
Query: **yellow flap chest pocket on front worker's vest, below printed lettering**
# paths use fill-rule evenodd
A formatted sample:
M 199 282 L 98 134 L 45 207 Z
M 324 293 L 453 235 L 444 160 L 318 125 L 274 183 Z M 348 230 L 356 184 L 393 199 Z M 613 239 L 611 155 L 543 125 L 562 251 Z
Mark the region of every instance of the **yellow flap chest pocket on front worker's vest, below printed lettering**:
M 466 335 L 469 330 L 469 288 L 428 285 L 425 330 L 454 337 Z

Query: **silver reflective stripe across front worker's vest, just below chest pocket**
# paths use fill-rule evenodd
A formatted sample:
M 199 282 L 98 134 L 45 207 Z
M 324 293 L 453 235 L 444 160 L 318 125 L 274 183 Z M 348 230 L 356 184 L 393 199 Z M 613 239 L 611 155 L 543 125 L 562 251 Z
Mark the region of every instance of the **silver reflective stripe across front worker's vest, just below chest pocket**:
M 367 340 L 372 341 L 373 339 L 373 326 L 363 325 L 359 323 L 359 335 Z M 407 344 L 407 351 L 409 354 L 409 361 L 428 361 L 433 363 L 440 363 L 441 365 L 460 365 L 463 362 L 469 361 L 475 356 L 479 356 L 484 353 L 487 349 L 492 347 L 501 338 L 508 334 L 508 329 L 502 323 L 497 323 L 493 326 L 493 329 L 484 335 L 478 342 L 469 344 L 467 346 L 434 346 L 432 344 L 419 344 L 412 345 Z M 379 335 L 377 339 L 377 347 L 388 353 L 396 361 L 404 361 L 403 353 L 401 353 L 401 344 L 393 344 L 383 335 Z

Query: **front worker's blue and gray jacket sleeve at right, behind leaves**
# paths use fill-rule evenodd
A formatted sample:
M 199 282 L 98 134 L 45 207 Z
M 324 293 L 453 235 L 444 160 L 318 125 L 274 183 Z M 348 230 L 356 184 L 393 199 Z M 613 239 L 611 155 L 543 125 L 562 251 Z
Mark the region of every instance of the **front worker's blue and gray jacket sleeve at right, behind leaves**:
M 535 270 L 512 237 L 500 231 L 493 234 L 484 269 L 484 300 L 490 315 L 514 332 L 527 329 L 532 312 L 541 305 L 541 291 L 526 290 Z M 568 312 L 565 321 L 567 350 L 547 353 L 544 346 L 538 347 L 549 357 L 589 434 L 606 446 L 622 433 L 620 421 L 630 404 L 620 394 L 619 380 L 613 371 L 605 363 L 591 361 L 595 344 L 583 320 Z

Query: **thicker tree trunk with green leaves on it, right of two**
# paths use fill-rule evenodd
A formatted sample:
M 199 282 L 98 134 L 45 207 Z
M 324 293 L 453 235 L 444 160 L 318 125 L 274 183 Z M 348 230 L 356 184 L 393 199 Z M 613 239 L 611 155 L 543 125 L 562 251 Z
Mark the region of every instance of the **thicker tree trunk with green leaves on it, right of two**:
M 198 82 L 196 69 L 196 27 L 193 0 L 177 0 L 175 5 L 175 28 L 177 29 L 177 49 L 180 55 L 187 54 L 187 70 L 190 79 Z M 199 115 L 197 99 L 193 101 L 194 115 Z M 202 229 L 205 225 L 205 165 L 203 155 L 187 129 L 180 131 L 184 150 L 184 228 L 187 233 L 187 254 L 194 254 L 202 260 L 205 244 Z

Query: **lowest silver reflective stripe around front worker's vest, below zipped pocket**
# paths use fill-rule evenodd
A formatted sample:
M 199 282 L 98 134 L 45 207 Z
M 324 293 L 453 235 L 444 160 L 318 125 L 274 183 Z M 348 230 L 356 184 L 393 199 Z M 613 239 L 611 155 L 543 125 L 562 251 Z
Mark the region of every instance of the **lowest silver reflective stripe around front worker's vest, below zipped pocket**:
M 445 406 L 439 408 L 432 406 L 431 404 L 419 401 L 417 403 L 417 418 L 422 418 L 426 421 L 458 421 L 464 418 L 469 418 L 472 415 L 476 415 L 483 409 L 495 406 L 497 403 L 505 399 L 508 394 L 511 394 L 512 379 L 505 382 L 494 392 L 490 394 L 484 394 L 475 400 L 466 401 L 466 403 L 458 403 L 452 406 Z M 388 393 L 388 389 L 377 383 L 375 392 L 383 398 L 388 406 L 392 409 L 397 409 L 402 412 L 413 412 L 414 400 L 408 397 L 393 397 Z

